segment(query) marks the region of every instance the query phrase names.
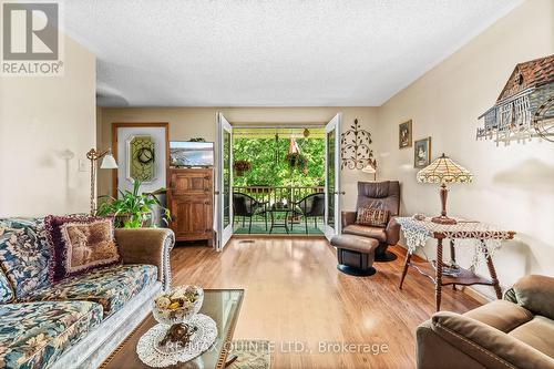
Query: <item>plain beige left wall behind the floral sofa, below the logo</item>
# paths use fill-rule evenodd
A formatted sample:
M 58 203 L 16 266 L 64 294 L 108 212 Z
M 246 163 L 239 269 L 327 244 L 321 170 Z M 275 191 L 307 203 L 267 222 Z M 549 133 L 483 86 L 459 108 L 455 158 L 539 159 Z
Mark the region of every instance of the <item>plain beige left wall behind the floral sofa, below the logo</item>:
M 63 76 L 0 78 L 0 216 L 88 212 L 95 58 L 65 38 Z

